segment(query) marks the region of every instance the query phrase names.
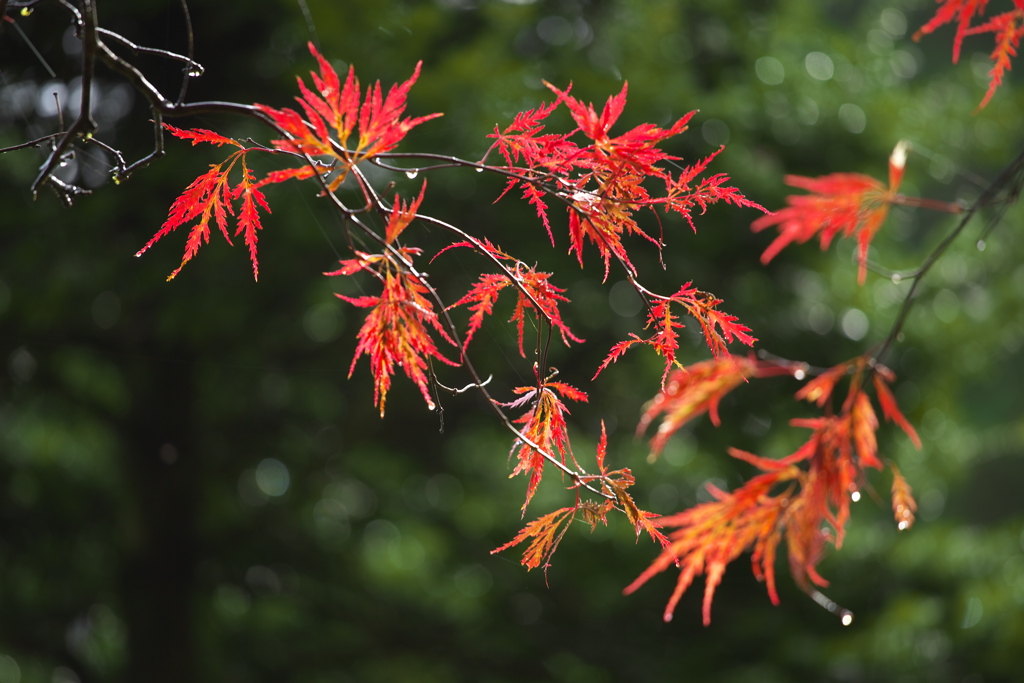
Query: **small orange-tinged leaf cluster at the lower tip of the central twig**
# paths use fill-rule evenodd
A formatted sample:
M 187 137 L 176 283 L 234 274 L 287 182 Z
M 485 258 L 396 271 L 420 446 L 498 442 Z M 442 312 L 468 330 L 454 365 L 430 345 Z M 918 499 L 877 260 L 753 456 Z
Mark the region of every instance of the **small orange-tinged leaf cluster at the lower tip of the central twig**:
M 577 518 L 577 515 L 590 524 L 593 531 L 598 522 L 607 525 L 608 513 L 616 509 L 626 514 L 636 529 L 637 538 L 642 531 L 646 531 L 651 539 L 662 544 L 663 548 L 668 548 L 669 539 L 658 530 L 658 526 L 660 526 L 658 516 L 638 508 L 633 497 L 627 490 L 635 482 L 632 472 L 628 468 L 609 472 L 605 467 L 604 459 L 607 446 L 608 436 L 602 422 L 601 440 L 597 444 L 598 474 L 582 476 L 573 483 L 572 488 L 577 492 L 575 505 L 560 508 L 538 517 L 523 526 L 515 538 L 504 546 L 494 549 L 490 553 L 500 553 L 523 543 L 527 539 L 532 539 L 523 552 L 521 564 L 527 569 L 543 566 L 545 573 L 547 573 L 548 567 L 551 566 L 552 555 L 555 554 L 558 544 L 561 543 L 562 537 L 568 530 L 569 523 Z M 594 485 L 599 486 L 598 490 L 603 495 L 602 500 L 599 502 L 584 500 L 580 493 L 585 485 L 591 488 Z M 525 506 L 523 507 L 525 509 Z

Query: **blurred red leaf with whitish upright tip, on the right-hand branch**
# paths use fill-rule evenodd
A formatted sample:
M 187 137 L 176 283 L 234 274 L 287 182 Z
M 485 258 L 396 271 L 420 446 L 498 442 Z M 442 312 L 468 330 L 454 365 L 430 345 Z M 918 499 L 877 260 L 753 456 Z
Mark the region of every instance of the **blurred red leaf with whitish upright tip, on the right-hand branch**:
M 864 284 L 867 274 L 867 252 L 871 240 L 898 200 L 903 168 L 906 166 L 906 142 L 896 144 L 889 157 L 889 185 L 860 173 L 831 173 L 818 178 L 785 176 L 785 182 L 806 189 L 810 195 L 791 195 L 784 209 L 762 216 L 751 224 L 758 232 L 776 225 L 779 234 L 761 255 L 762 263 L 775 257 L 791 242 L 804 243 L 815 236 L 821 249 L 827 249 L 833 238 L 857 237 L 857 282 Z

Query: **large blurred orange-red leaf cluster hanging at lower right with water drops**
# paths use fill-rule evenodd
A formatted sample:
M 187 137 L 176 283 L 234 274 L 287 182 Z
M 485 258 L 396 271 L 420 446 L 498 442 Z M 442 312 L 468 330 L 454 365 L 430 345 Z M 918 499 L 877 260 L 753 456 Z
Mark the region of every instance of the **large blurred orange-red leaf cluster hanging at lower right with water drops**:
M 758 374 L 757 366 L 749 360 L 730 357 L 707 362 L 695 368 L 698 376 L 691 381 L 681 374 L 674 376 L 675 383 L 652 401 L 642 424 L 646 426 L 663 412 L 668 416 L 664 423 L 668 427 L 663 429 L 669 433 L 705 411 L 717 420 L 715 409 L 722 396 L 746 377 Z M 754 574 L 765 582 L 771 601 L 777 604 L 774 564 L 783 538 L 797 584 L 805 591 L 811 590 L 811 584 L 825 586 L 827 582 L 816 569 L 825 546 L 842 546 L 851 495 L 860 485 L 864 470 L 883 468 L 876 438 L 879 420 L 864 386 L 868 376 L 883 416 L 899 425 L 920 449 L 916 432 L 900 413 L 889 389 L 895 379 L 892 372 L 864 356 L 841 364 L 797 392 L 798 398 L 826 409 L 821 417 L 792 422 L 811 429 L 810 438 L 795 453 L 778 460 L 731 449 L 732 457 L 754 465 L 762 474 L 731 493 L 709 485 L 713 501 L 660 518 L 663 528 L 675 529 L 669 535 L 670 545 L 626 588 L 626 593 L 637 590 L 669 566 L 678 566 L 676 589 L 665 609 L 669 621 L 693 579 L 705 574 L 703 623 L 708 625 L 715 590 L 726 566 L 751 550 Z M 830 410 L 833 395 L 837 383 L 845 377 L 850 377 L 849 389 L 836 413 Z M 660 430 L 655 440 L 656 447 L 664 444 Z M 913 498 L 899 471 L 892 470 L 893 511 L 899 528 L 908 528 L 913 521 Z

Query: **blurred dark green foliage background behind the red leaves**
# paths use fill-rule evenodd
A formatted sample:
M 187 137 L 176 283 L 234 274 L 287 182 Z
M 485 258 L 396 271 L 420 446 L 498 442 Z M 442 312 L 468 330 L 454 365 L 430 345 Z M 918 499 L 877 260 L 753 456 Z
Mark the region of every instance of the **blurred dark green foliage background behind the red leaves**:
M 183 49 L 177 3 L 98 4 L 111 30 Z M 625 79 L 620 130 L 700 110 L 671 151 L 693 161 L 727 144 L 712 171 L 766 207 L 782 205 L 784 173 L 884 178 L 901 138 L 915 145 L 907 194 L 971 200 L 1018 154 L 1024 93 L 1012 74 L 974 115 L 990 41 L 968 40 L 958 66 L 950 29 L 911 42 L 935 7 L 196 0 L 206 75 L 189 99 L 289 105 L 295 75 L 312 68 L 308 40 L 339 71 L 354 63 L 364 83 L 404 80 L 423 59 L 409 113 L 444 117 L 401 150 L 478 159 L 496 124 L 549 98 L 543 80 L 571 81 L 577 96 L 600 103 Z M 3 28 L 0 146 L 57 130 L 48 93 L 74 101 L 67 12 L 43 4 L 18 25 L 56 77 Z M 139 62 L 173 90 L 178 66 Z M 137 158 L 152 140 L 147 112 L 115 75 L 98 77 L 99 137 Z M 67 125 L 73 114 L 62 114 Z M 228 118 L 174 123 L 265 139 Z M 888 478 L 870 479 L 877 494 L 854 506 L 843 549 L 821 565 L 833 582 L 825 592 L 856 613 L 853 625 L 801 593 L 783 561 L 782 604 L 773 607 L 740 558 L 705 629 L 700 582 L 671 624 L 660 613 L 674 575 L 622 595 L 655 556 L 623 520 L 594 535 L 571 529 L 549 586 L 515 551 L 489 554 L 522 524 L 525 481 L 507 478 L 509 436 L 468 393 L 444 399 L 438 433 L 437 415 L 403 378 L 380 420 L 366 361 L 346 379 L 362 313 L 332 293 L 357 284 L 319 275 L 346 247 L 312 186 L 268 189 L 258 285 L 245 250 L 216 236 L 169 284 L 183 234 L 132 258 L 181 188 L 223 156 L 178 140 L 168 152 L 122 185 L 103 182 L 109 159 L 81 154 L 65 172 L 94 194 L 71 209 L 47 193 L 31 201 L 42 152 L 0 156 L 0 683 L 1020 680 L 1019 208 L 984 236 L 983 251 L 984 221 L 968 229 L 927 281 L 889 358 L 925 445 L 914 451 L 886 425 L 880 451 L 914 487 L 920 517 L 898 532 Z M 380 181 L 416 189 L 400 174 Z M 501 187 L 486 174 L 432 173 L 425 210 L 536 260 L 568 288 L 574 303 L 563 314 L 588 343 L 556 345 L 552 360 L 591 393 L 572 408 L 578 456 L 590 457 L 605 420 L 609 464 L 634 470 L 641 507 L 668 513 L 705 500 L 707 481 L 731 487 L 753 474 L 726 446 L 772 457 L 796 447 L 804 434 L 786 422 L 812 411 L 791 400 L 793 380 L 764 380 L 723 402 L 722 428 L 697 421 L 647 464 L 633 428 L 660 359 L 637 351 L 587 381 L 614 341 L 642 327 L 639 306 L 616 273 L 600 282 L 589 247 L 591 268 L 580 271 L 564 253 L 561 217 L 551 249 L 531 209 L 513 197 L 493 204 Z M 725 299 L 760 348 L 817 366 L 884 338 L 906 282 L 869 275 L 857 288 L 849 244 L 791 248 L 764 267 L 758 256 L 771 236 L 750 231 L 756 216 L 715 207 L 696 234 L 668 221 L 667 269 L 652 253 L 635 259 L 644 282 L 667 292 L 692 280 Z M 910 269 L 953 224 L 896 210 L 872 258 Z M 446 240 L 420 236 L 428 252 Z M 483 264 L 468 252 L 442 258 L 436 284 L 454 300 Z M 499 396 L 531 376 L 501 325 L 508 312 L 500 304 L 475 342 Z M 690 328 L 683 345 L 686 362 L 707 356 Z M 549 474 L 528 514 L 566 496 Z

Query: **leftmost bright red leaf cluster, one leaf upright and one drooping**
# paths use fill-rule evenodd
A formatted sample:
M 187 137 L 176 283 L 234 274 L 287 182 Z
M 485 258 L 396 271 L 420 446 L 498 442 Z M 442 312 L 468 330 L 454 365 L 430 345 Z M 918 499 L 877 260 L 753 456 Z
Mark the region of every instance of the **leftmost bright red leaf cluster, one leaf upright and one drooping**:
M 161 238 L 175 228 L 199 218 L 193 226 L 185 243 L 185 254 L 171 278 L 174 278 L 189 259 L 191 259 L 204 243 L 210 241 L 210 219 L 217 223 L 224 239 L 230 243 L 227 233 L 227 215 L 234 214 L 232 202 L 242 200 L 238 214 L 238 229 L 236 234 L 245 233 L 246 246 L 253 264 L 253 276 L 259 272 L 256 258 L 257 230 L 261 229 L 258 208 L 267 212 L 270 208 L 260 187 L 289 179 L 302 180 L 319 174 L 335 172 L 335 176 L 327 185 L 334 190 L 344 181 L 348 170 L 356 163 L 393 150 L 395 145 L 415 126 L 428 121 L 440 114 L 402 119 L 406 111 L 406 98 L 409 89 L 420 74 L 417 63 L 413 76 L 400 85 L 394 85 L 384 96 L 380 82 L 367 88 L 362 97 L 359 81 L 352 68 L 344 85 L 331 63 L 309 43 L 309 51 L 319 65 L 318 73 L 311 73 L 313 92 L 298 79 L 301 97 L 296 97 L 309 121 L 294 110 L 275 110 L 265 104 L 256 104 L 269 122 L 287 137 L 272 140 L 276 152 L 286 152 L 304 157 L 303 165 L 297 168 L 272 171 L 262 180 L 256 181 L 255 176 L 246 164 L 246 155 L 250 152 L 265 151 L 263 147 L 246 147 L 238 140 L 232 140 L 203 128 L 181 130 L 165 124 L 165 128 L 173 135 L 199 142 L 209 142 L 217 146 L 230 144 L 239 147 L 220 164 L 211 165 L 210 170 L 199 176 L 185 187 L 184 191 L 174 200 L 167 220 L 153 239 L 138 251 L 136 256 L 156 244 Z M 361 101 L 361 104 L 360 104 Z M 349 138 L 358 129 L 358 139 L 354 148 L 348 148 Z M 333 137 L 332 137 L 333 136 Z M 314 159 L 315 158 L 315 159 Z M 326 159 L 324 159 L 326 158 Z M 308 163 L 308 162 L 315 163 Z M 241 162 L 242 179 L 231 187 L 228 174 L 237 163 Z

